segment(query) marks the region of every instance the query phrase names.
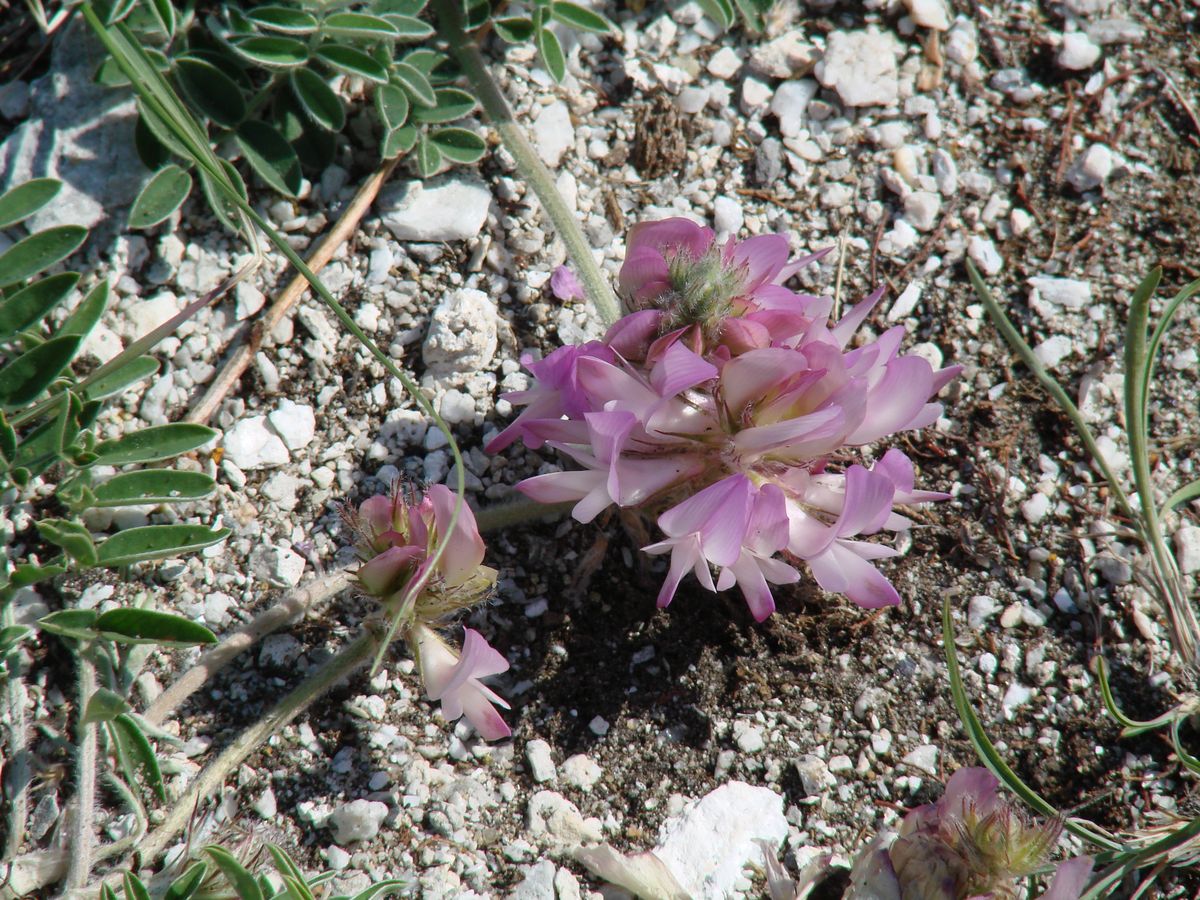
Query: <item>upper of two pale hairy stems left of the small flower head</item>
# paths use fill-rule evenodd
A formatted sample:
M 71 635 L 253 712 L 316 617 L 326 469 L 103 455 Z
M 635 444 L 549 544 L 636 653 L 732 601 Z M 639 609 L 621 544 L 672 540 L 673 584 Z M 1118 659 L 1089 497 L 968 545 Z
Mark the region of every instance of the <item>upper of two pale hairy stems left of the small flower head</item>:
M 204 653 L 194 666 L 184 672 L 167 690 L 158 695 L 142 718 L 151 725 L 162 725 L 185 700 L 203 688 L 214 674 L 228 666 L 239 654 L 248 650 L 272 631 L 295 624 L 304 618 L 308 610 L 336 596 L 349 587 L 349 576 L 346 571 L 336 571 L 293 590 L 275 606 L 260 612 L 211 650 Z

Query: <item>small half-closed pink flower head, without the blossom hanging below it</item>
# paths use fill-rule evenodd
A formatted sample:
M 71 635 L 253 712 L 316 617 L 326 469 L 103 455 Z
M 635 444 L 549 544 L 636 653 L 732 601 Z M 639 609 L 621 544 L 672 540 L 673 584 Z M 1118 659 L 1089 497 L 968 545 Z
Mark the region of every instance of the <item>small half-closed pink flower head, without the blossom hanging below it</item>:
M 466 503 L 451 527 L 456 504 L 445 485 L 433 485 L 424 497 L 397 485 L 348 512 L 362 560 L 354 572 L 359 587 L 385 604 L 409 604 L 413 616 L 424 620 L 482 599 L 496 570 L 482 565 L 484 539 Z

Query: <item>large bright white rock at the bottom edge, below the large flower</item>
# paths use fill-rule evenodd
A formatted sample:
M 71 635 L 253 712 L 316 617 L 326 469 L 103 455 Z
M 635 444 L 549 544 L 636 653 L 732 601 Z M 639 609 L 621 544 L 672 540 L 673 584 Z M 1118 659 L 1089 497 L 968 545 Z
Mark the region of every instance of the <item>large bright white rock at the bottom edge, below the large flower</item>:
M 761 865 L 760 841 L 774 850 L 786 838 L 784 798 L 730 781 L 665 822 L 654 853 L 688 896 L 725 900 L 748 864 Z

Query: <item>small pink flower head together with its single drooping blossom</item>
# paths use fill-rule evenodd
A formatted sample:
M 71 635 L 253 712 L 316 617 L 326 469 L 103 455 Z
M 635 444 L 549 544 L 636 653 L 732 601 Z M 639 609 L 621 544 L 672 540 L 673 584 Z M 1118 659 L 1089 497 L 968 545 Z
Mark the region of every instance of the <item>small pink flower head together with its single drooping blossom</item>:
M 509 704 L 479 679 L 508 671 L 508 660 L 478 631 L 466 629 L 458 654 L 430 626 L 478 602 L 496 582 L 496 571 L 482 565 L 484 539 L 469 506 L 451 527 L 456 503 L 445 485 L 420 498 L 397 487 L 365 500 L 347 516 L 362 560 L 354 575 L 401 618 L 430 700 L 440 701 L 449 721 L 466 715 L 486 740 L 497 740 L 510 731 L 494 707 Z

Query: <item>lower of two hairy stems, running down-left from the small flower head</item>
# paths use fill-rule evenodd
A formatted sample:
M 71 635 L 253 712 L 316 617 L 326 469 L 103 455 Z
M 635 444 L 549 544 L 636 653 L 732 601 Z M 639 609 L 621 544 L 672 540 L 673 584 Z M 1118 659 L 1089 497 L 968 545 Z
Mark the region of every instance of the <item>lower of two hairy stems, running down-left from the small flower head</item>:
M 332 659 L 328 660 L 320 668 L 304 679 L 295 690 L 271 707 L 262 719 L 239 734 L 229 746 L 221 751 L 220 756 L 204 767 L 204 770 L 188 786 L 187 793 L 174 802 L 163 823 L 155 828 L 138 845 L 142 859 L 150 862 L 162 853 L 170 841 L 174 840 L 175 835 L 187 826 L 196 806 L 218 788 L 226 778 L 247 756 L 258 749 L 271 734 L 304 712 L 317 697 L 330 690 L 355 670 L 365 666 L 378 649 L 378 646 L 379 637 L 370 626 L 365 628 L 358 637 L 338 650 Z

